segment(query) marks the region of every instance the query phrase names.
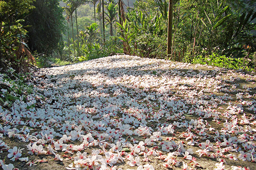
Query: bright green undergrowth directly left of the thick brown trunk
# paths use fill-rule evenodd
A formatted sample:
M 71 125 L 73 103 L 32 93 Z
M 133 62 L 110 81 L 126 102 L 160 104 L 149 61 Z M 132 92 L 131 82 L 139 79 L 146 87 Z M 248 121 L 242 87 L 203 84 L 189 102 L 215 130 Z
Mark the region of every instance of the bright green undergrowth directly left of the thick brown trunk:
M 150 1 L 137 1 L 134 8 L 130 8 L 127 20 L 117 23 L 120 32 L 119 37 L 124 42 L 127 54 L 150 58 L 165 58 L 166 56 L 166 1 L 159 0 L 156 3 Z M 144 6 L 148 6 L 144 8 Z M 167 9 L 167 8 L 166 8 Z

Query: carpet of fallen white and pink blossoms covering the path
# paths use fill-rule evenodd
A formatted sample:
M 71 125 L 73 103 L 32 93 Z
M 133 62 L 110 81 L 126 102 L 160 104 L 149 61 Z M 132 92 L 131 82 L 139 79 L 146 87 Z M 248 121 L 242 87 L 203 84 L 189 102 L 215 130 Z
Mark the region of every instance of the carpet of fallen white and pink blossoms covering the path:
M 42 68 L 27 102 L 0 106 L 0 166 L 256 170 L 255 83 L 241 70 L 126 55 Z

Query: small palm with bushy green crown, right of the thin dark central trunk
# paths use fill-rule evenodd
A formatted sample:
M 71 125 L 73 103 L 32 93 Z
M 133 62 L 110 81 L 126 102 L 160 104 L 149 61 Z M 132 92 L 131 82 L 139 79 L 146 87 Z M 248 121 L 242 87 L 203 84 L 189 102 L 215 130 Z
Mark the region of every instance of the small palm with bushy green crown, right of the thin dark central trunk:
M 117 14 L 117 5 L 114 5 L 112 2 L 108 4 L 107 6 L 107 12 L 106 14 L 106 20 L 108 21 L 110 25 L 110 35 L 113 36 L 113 22 L 115 20 L 116 14 Z

